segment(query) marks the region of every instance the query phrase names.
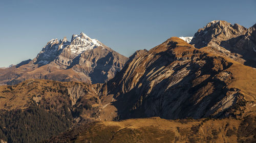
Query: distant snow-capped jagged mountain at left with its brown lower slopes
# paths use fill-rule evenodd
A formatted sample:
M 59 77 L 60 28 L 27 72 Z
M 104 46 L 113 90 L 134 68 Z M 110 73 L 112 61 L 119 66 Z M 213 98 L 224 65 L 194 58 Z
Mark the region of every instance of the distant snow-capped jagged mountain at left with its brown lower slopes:
M 86 34 L 52 39 L 35 59 L 0 69 L 0 84 L 27 79 L 104 83 L 120 71 L 128 59 Z

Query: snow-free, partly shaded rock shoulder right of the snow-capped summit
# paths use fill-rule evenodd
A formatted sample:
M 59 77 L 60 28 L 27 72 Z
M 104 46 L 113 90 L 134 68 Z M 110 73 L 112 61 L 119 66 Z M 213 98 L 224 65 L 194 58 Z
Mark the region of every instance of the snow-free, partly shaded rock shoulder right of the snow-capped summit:
M 103 83 L 120 71 L 127 58 L 109 47 L 96 47 L 90 52 L 81 54 L 79 64 L 72 67 L 77 72 L 87 73 L 92 83 Z

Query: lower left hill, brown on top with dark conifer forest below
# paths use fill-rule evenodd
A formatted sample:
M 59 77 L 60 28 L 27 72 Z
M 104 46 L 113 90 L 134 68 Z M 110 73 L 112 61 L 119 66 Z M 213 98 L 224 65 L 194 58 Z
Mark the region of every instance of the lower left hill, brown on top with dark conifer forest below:
M 0 87 L 0 140 L 40 142 L 97 118 L 101 84 L 31 79 Z

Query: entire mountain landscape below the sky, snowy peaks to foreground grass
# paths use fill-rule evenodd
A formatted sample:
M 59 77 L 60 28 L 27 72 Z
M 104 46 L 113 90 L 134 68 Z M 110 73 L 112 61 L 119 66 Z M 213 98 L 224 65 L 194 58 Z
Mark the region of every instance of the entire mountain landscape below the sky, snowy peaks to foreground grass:
M 129 58 L 83 33 L 53 39 L 0 69 L 0 140 L 253 142 L 255 25 L 211 21 Z

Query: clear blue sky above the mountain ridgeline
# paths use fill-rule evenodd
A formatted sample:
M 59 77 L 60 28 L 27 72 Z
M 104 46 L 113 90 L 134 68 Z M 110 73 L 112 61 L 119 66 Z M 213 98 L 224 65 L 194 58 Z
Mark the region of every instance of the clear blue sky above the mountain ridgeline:
M 0 67 L 33 59 L 46 43 L 86 33 L 130 56 L 173 36 L 193 36 L 212 20 L 250 27 L 255 0 L 0 1 Z

